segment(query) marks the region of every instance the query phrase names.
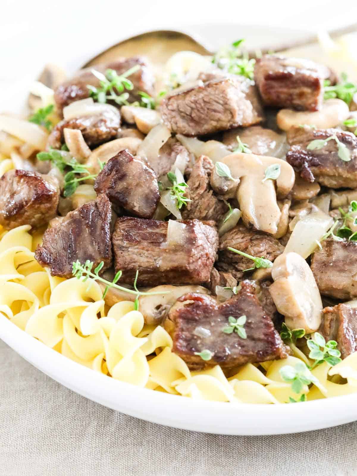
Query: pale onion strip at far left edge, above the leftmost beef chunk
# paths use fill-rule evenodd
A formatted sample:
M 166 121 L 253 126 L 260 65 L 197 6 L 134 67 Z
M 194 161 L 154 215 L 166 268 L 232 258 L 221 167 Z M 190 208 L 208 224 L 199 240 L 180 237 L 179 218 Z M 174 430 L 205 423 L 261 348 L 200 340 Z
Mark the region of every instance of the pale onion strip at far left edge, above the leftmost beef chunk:
M 46 147 L 48 133 L 37 124 L 33 124 L 33 122 L 28 120 L 1 114 L 0 130 L 4 130 L 24 142 L 29 142 L 37 150 L 43 150 Z

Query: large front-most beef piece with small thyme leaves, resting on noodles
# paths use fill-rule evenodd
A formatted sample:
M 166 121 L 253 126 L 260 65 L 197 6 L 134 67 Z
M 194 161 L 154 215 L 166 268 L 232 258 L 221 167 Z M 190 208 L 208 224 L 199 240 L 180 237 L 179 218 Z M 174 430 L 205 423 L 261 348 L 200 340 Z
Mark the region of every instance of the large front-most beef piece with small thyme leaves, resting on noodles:
M 172 337 L 173 352 L 185 360 L 189 368 L 218 364 L 228 369 L 248 362 L 288 357 L 289 348 L 259 304 L 254 287 L 248 281 L 241 285 L 236 296 L 221 304 L 211 296 L 191 293 L 179 297 L 171 307 L 164 327 Z M 246 339 L 236 332 L 223 332 L 225 327 L 229 327 L 229 316 L 238 318 L 243 315 L 247 317 L 244 325 Z M 195 354 L 206 349 L 213 354 L 208 361 Z

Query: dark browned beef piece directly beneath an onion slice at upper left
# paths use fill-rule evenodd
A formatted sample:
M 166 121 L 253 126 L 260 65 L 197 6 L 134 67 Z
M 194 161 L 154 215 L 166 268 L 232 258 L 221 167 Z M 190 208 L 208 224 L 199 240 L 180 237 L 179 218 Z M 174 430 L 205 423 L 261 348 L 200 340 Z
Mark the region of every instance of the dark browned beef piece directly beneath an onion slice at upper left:
M 116 139 L 120 129 L 120 112 L 107 110 L 93 116 L 83 116 L 74 119 L 61 120 L 52 130 L 47 139 L 47 148 L 60 149 L 63 139 L 63 129 L 79 129 L 88 146 L 95 146 L 111 139 Z

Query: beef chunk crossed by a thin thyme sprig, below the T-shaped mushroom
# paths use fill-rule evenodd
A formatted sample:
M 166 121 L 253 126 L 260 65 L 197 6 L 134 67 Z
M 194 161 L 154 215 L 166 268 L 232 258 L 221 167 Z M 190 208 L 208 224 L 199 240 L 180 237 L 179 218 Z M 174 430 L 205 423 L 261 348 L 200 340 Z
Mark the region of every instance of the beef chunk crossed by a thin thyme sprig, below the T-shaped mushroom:
M 256 258 L 267 258 L 274 261 L 284 251 L 284 247 L 276 238 L 254 230 L 248 230 L 244 225 L 236 227 L 225 233 L 219 241 L 217 268 L 220 271 L 231 272 L 240 280 L 243 271 L 252 268 L 251 259 L 244 258 L 227 248 L 236 248 Z

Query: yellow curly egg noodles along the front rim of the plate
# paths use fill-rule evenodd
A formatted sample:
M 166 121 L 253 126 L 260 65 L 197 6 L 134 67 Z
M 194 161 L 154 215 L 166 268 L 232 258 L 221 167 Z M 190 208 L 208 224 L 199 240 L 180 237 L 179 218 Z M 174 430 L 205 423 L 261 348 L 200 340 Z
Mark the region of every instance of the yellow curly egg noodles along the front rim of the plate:
M 109 377 L 170 394 L 236 403 L 298 399 L 279 374 L 285 365 L 311 363 L 294 345 L 294 357 L 247 364 L 229 378 L 219 366 L 190 372 L 171 351 L 169 334 L 144 324 L 132 302 L 108 308 L 95 281 L 56 278 L 41 268 L 33 254 L 41 234 L 29 230 L 22 226 L 1 235 L 0 313 L 54 351 Z M 357 353 L 312 373 L 319 383 L 302 389 L 307 400 L 356 392 Z

